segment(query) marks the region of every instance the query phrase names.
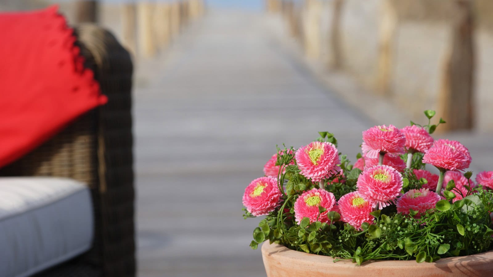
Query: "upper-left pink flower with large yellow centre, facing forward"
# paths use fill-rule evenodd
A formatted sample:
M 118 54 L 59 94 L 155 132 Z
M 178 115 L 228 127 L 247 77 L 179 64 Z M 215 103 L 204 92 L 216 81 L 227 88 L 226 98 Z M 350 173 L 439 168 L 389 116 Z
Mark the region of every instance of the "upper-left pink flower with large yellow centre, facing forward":
M 294 154 L 301 174 L 314 182 L 337 174 L 341 163 L 337 148 L 330 142 L 314 141 L 296 150 Z

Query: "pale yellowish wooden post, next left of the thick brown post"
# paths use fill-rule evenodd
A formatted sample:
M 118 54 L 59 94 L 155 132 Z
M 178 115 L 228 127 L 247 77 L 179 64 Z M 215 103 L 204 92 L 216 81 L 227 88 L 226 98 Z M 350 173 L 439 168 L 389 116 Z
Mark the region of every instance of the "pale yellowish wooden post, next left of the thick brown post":
M 397 12 L 392 0 L 383 0 L 379 34 L 378 75 L 376 89 L 380 95 L 391 93 L 394 40 L 397 30 Z

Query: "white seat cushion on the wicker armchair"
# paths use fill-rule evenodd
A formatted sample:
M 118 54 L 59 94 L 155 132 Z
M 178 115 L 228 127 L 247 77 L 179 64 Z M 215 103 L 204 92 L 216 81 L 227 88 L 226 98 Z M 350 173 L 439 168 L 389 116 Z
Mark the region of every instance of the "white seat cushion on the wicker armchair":
M 30 276 L 87 251 L 93 224 L 84 183 L 0 178 L 0 276 Z

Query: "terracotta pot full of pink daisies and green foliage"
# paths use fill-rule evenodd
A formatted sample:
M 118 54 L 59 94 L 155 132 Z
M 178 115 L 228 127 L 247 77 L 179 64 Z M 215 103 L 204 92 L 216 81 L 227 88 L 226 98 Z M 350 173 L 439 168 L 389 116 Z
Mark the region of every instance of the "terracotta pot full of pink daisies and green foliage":
M 460 142 L 428 124 L 363 132 L 354 164 L 333 134 L 277 152 L 245 189 L 244 218 L 265 216 L 262 246 L 273 276 L 485 276 L 493 269 L 493 172 L 472 179 Z M 427 171 L 431 167 L 438 174 Z

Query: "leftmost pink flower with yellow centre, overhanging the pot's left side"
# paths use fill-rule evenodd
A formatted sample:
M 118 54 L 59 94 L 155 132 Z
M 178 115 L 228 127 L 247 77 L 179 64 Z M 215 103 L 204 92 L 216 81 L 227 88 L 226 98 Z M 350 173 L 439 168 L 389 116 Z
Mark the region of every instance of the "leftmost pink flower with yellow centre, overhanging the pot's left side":
M 279 206 L 281 191 L 274 177 L 257 178 L 246 187 L 243 205 L 254 216 L 267 215 Z

